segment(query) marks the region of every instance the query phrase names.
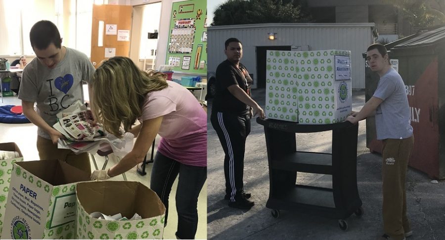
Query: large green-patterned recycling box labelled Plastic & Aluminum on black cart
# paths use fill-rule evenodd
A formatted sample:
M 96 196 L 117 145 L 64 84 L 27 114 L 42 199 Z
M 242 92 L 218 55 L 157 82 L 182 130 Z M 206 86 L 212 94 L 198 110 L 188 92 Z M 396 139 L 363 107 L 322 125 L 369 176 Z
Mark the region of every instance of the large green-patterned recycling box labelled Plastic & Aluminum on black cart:
M 266 117 L 342 122 L 352 110 L 351 51 L 267 51 Z

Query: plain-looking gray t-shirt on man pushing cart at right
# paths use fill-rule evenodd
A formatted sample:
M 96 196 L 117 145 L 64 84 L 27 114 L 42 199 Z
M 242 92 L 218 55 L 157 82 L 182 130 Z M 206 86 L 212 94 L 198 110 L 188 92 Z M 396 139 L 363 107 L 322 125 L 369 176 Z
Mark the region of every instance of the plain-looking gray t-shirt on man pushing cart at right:
M 401 76 L 391 68 L 380 78 L 374 96 L 383 100 L 375 112 L 377 139 L 406 139 L 412 136 L 408 98 Z

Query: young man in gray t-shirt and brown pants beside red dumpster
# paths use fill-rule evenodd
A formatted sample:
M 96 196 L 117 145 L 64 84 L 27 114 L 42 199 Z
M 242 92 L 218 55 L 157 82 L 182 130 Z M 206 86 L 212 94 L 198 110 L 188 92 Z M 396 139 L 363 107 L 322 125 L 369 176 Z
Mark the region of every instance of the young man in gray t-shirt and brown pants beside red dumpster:
M 390 64 L 385 46 L 373 44 L 366 52 L 371 70 L 380 76 L 374 96 L 346 119 L 355 124 L 375 111 L 377 139 L 383 142 L 382 239 L 403 240 L 412 235 L 406 216 L 406 171 L 414 144 L 408 98 L 399 73 Z

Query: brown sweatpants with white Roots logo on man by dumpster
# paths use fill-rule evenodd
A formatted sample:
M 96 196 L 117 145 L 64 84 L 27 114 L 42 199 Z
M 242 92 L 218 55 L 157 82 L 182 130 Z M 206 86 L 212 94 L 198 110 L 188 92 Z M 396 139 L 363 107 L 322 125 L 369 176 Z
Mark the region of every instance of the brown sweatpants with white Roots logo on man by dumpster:
M 395 240 L 411 231 L 406 216 L 406 171 L 414 137 L 383 140 L 383 229 Z

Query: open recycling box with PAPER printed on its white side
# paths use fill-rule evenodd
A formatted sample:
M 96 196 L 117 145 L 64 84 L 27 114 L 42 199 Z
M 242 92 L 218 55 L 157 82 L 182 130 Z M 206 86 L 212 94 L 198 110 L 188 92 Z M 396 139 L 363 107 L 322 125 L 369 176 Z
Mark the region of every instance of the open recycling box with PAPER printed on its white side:
M 2 239 L 73 239 L 76 183 L 90 174 L 60 160 L 14 163 Z

